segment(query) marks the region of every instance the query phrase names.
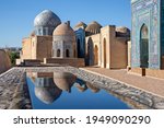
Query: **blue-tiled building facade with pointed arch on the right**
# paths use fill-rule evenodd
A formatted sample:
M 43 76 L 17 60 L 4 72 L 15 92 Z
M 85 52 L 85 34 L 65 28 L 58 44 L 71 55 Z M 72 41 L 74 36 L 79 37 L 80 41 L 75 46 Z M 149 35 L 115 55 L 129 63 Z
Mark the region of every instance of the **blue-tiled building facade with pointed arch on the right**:
M 164 68 L 164 15 L 162 0 L 131 0 L 131 68 L 142 75 L 162 77 Z M 162 15 L 161 15 L 162 14 Z

